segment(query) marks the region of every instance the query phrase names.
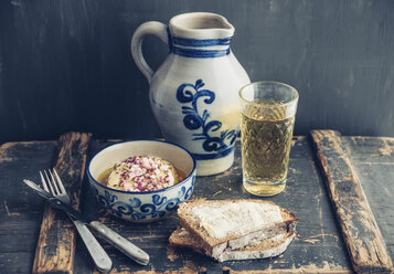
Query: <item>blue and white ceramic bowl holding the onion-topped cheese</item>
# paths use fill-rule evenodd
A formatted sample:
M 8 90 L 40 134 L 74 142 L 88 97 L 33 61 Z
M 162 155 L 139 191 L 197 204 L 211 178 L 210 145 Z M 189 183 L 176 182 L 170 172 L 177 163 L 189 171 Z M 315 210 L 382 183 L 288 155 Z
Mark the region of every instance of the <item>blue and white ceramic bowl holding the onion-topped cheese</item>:
M 97 178 L 116 162 L 130 156 L 149 155 L 171 162 L 187 175 L 185 179 L 172 187 L 149 191 L 129 192 L 108 188 Z M 160 220 L 189 200 L 195 181 L 195 160 L 184 148 L 159 140 L 134 140 L 111 145 L 98 151 L 87 167 L 90 188 L 107 211 L 131 222 L 151 222 Z

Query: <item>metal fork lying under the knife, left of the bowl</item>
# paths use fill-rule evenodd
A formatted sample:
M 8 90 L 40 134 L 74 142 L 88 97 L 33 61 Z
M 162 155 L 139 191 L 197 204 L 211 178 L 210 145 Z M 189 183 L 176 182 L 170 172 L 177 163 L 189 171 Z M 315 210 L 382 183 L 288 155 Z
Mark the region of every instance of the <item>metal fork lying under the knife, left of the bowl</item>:
M 71 203 L 70 196 L 64 189 L 62 180 L 55 169 L 53 169 L 53 172 L 51 172 L 51 170 L 47 170 L 47 172 L 46 170 L 44 170 L 44 172 L 40 171 L 40 176 L 45 191 L 51 192 L 54 197 L 66 204 Z M 84 223 L 78 220 L 74 220 L 71 215 L 68 217 L 74 222 L 74 225 L 84 241 L 97 270 L 103 273 L 109 272 L 113 266 L 113 261 L 98 243 L 96 238 Z

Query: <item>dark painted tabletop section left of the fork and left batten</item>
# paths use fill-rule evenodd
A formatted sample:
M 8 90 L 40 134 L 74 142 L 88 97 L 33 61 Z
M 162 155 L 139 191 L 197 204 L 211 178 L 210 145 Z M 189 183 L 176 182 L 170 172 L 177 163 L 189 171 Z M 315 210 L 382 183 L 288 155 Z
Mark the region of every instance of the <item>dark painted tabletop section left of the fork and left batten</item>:
M 7 143 L 0 147 L 0 270 L 31 273 L 45 201 L 22 182 L 39 181 L 52 167 L 56 141 Z

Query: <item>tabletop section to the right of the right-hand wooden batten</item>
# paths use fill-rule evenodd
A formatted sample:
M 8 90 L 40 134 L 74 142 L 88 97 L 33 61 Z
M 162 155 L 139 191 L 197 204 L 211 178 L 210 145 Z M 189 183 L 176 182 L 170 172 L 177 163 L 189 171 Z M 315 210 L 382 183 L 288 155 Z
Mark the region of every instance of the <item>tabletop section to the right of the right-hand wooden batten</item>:
M 343 146 L 394 259 L 394 138 L 343 137 Z

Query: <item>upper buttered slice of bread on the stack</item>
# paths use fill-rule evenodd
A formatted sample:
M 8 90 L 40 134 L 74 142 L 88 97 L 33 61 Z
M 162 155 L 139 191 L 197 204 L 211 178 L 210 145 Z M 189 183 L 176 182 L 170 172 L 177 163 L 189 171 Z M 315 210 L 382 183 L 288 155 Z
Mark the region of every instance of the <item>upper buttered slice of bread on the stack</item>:
M 181 203 L 181 226 L 205 253 L 220 257 L 225 250 L 241 250 L 296 230 L 297 218 L 264 200 L 204 200 Z

